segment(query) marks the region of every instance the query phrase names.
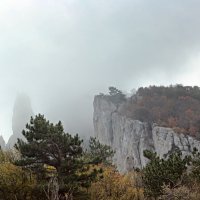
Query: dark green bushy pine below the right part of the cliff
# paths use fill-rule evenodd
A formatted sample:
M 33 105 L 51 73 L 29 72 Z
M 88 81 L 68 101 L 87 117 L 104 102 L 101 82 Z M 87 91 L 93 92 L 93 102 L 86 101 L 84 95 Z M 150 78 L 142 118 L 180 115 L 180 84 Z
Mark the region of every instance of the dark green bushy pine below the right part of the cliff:
M 144 156 L 150 160 L 142 170 L 145 195 L 155 198 L 163 193 L 164 184 L 173 188 L 180 181 L 191 160 L 189 156 L 182 158 L 180 151 L 173 152 L 166 160 L 150 151 L 144 151 Z

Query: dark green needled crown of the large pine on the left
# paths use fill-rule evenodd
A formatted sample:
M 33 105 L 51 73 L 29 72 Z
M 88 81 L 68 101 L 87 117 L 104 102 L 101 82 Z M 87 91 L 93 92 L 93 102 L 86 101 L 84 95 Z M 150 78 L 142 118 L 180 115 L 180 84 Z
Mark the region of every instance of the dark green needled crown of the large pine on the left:
M 61 122 L 54 125 L 43 115 L 31 118 L 30 124 L 26 125 L 26 130 L 23 130 L 22 134 L 27 142 L 18 139 L 15 145 L 22 154 L 19 161 L 22 166 L 36 166 L 38 169 L 41 165 L 47 164 L 60 171 L 60 167 L 66 164 L 66 161 L 73 163 L 82 153 L 82 141 L 78 135 L 73 137 L 64 133 Z

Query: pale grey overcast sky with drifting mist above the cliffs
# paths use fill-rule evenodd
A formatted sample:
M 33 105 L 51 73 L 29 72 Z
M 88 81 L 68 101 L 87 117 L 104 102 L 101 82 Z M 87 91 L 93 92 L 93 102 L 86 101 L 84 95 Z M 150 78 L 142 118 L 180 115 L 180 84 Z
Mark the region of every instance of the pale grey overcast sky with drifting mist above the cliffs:
M 66 131 L 92 133 L 108 86 L 200 86 L 198 0 L 1 0 L 0 135 L 16 95 Z

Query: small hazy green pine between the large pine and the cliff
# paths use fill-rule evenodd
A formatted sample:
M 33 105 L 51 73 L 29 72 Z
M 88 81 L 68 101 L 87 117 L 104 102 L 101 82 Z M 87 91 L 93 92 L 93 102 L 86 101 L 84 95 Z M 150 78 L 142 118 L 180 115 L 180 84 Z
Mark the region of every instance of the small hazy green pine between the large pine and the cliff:
M 101 144 L 96 138 L 90 137 L 88 155 L 93 163 L 111 164 L 114 151 L 110 146 Z

